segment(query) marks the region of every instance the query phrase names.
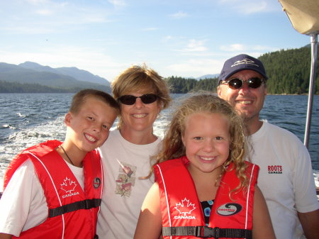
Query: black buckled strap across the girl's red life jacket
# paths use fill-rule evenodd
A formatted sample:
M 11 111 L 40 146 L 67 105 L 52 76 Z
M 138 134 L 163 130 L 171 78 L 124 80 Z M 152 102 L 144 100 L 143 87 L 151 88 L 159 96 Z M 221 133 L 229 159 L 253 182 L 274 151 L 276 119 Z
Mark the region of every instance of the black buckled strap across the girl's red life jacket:
M 252 230 L 236 228 L 209 228 L 208 226 L 172 226 L 162 228 L 163 236 L 193 235 L 197 238 L 247 238 L 252 239 Z

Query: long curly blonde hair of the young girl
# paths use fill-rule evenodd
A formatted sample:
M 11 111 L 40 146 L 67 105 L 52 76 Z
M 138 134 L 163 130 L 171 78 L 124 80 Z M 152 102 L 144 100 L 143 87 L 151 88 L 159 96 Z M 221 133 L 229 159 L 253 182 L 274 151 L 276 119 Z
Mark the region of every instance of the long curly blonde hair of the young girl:
M 230 154 L 223 164 L 220 177 L 226 170 L 230 171 L 233 169 L 228 167 L 230 162 L 233 162 L 236 169 L 236 175 L 240 179 L 240 185 L 236 189 L 246 187 L 246 164 L 243 158 L 245 153 L 245 136 L 243 133 L 242 118 L 240 118 L 230 104 L 212 94 L 191 96 L 188 99 L 185 99 L 181 105 L 177 107 L 173 113 L 169 129 L 164 136 L 162 150 L 155 156 L 155 164 L 186 155 L 186 149 L 181 140 L 181 136 L 185 133 L 186 118 L 194 113 L 220 113 L 228 118 L 230 125 Z

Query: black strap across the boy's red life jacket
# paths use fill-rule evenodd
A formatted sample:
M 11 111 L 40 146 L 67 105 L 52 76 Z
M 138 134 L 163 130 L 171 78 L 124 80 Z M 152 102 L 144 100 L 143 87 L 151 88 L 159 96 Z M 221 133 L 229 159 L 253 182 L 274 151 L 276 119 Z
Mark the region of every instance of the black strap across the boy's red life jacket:
M 102 199 L 86 199 L 83 201 L 76 201 L 72 204 L 66 204 L 58 206 L 55 209 L 49 209 L 49 218 L 54 216 L 60 216 L 71 211 L 77 211 L 80 209 L 92 209 L 101 206 Z

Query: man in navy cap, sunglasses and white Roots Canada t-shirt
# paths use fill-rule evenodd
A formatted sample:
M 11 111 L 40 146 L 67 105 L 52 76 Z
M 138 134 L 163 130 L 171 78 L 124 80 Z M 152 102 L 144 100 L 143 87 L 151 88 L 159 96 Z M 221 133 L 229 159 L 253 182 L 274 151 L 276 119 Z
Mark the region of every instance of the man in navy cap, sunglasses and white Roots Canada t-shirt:
M 218 96 L 244 119 L 247 157 L 260 167 L 258 186 L 267 201 L 276 238 L 306 235 L 318 239 L 319 204 L 308 150 L 293 133 L 259 120 L 267 79 L 262 62 L 237 55 L 225 61 Z

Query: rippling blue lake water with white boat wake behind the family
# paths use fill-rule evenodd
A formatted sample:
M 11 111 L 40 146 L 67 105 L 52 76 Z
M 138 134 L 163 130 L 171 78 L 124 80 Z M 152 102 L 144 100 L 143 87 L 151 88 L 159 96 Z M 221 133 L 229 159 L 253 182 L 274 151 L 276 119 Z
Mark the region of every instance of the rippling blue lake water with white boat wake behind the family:
M 73 94 L 0 94 L 0 191 L 6 167 L 21 150 L 45 140 L 64 140 L 65 113 Z M 175 101 L 184 94 L 172 94 Z M 261 117 L 295 133 L 303 142 L 308 96 L 273 96 L 264 102 Z M 169 108 L 155 122 L 155 134 L 164 135 Z M 319 187 L 319 96 L 314 96 L 309 152 Z

